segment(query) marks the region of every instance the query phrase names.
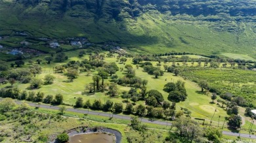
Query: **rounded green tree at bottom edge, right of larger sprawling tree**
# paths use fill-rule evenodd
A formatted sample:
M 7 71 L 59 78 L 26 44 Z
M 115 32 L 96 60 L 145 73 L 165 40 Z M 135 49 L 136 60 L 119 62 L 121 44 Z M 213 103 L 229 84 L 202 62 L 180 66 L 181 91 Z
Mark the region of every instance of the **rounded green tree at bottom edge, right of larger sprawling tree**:
M 214 143 L 221 143 L 222 135 L 223 133 L 220 129 L 213 127 L 209 127 L 205 131 L 205 137 L 207 137 L 209 141 L 213 141 Z

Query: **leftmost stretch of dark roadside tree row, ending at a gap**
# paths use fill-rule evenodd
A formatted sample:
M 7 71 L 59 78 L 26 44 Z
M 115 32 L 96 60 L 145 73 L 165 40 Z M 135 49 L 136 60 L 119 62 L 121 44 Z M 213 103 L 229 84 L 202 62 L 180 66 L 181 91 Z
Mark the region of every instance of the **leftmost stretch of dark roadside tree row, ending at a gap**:
M 19 99 L 32 101 L 35 103 L 46 103 L 46 104 L 62 104 L 63 103 L 63 96 L 61 94 L 53 95 L 45 95 L 43 92 L 37 92 L 34 91 L 20 91 L 17 87 L 13 88 L 2 88 L 0 90 L 0 97 L 4 98 L 12 98 L 12 99 Z

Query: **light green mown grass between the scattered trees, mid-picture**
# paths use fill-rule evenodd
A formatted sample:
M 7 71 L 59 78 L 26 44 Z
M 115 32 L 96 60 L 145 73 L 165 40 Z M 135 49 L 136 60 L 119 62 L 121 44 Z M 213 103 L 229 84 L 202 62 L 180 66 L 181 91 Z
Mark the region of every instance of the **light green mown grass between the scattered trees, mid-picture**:
M 73 56 L 69 60 L 77 60 L 79 58 L 75 57 L 75 54 L 77 52 L 68 52 L 68 54 Z M 87 58 L 88 56 L 83 57 Z M 116 59 L 112 57 L 106 57 L 106 62 L 115 62 Z M 131 63 L 131 59 L 127 60 L 126 64 Z M 154 65 L 156 65 L 156 62 L 153 62 Z M 123 64 L 117 64 L 118 67 L 123 67 L 125 65 Z M 84 100 L 90 99 L 91 101 L 94 101 L 95 99 L 101 99 L 102 102 L 110 99 L 114 102 L 123 102 L 125 99 L 119 98 L 111 98 L 106 93 L 96 93 L 95 95 L 82 95 L 83 91 L 85 91 L 85 85 L 92 82 L 92 76 L 86 76 L 86 73 L 81 73 L 77 79 L 74 80 L 74 82 L 68 82 L 68 79 L 63 74 L 54 74 L 53 73 L 53 66 L 54 65 L 44 65 L 43 66 L 43 73 L 39 74 L 38 78 L 43 78 L 46 74 L 53 74 L 56 77 L 56 80 L 54 81 L 53 85 L 49 86 L 43 86 L 40 89 L 35 89 L 34 91 L 42 91 L 45 93 L 45 95 L 55 95 L 56 93 L 61 93 L 64 95 L 64 103 L 66 104 L 75 104 L 75 101 L 77 97 L 83 97 Z M 134 68 L 135 65 L 133 65 Z M 163 67 L 162 67 L 163 68 Z M 167 82 L 176 82 L 177 80 L 182 80 L 186 84 L 186 90 L 188 93 L 188 98 L 186 101 L 177 104 L 177 110 L 180 110 L 180 107 L 188 108 L 192 112 L 192 117 L 194 118 L 206 118 L 211 119 L 211 116 L 213 115 L 214 109 L 216 108 L 218 112 L 215 114 L 215 117 L 213 118 L 215 121 L 217 121 L 218 116 L 221 115 L 223 118 L 221 118 L 221 121 L 224 121 L 224 116 L 226 116 L 226 112 L 219 108 L 216 104 L 209 104 L 211 101 L 210 96 L 199 94 L 197 91 L 200 91 L 200 87 L 197 86 L 196 83 L 190 82 L 189 80 L 184 80 L 181 76 L 174 76 L 172 73 L 167 73 L 163 76 L 161 76 L 158 79 L 155 79 L 154 76 L 148 75 L 146 72 L 142 71 L 142 68 L 139 67 L 139 69 L 136 69 L 136 74 L 142 79 L 148 80 L 148 90 L 150 89 L 157 89 L 163 94 L 163 97 L 165 100 L 167 100 L 168 93 L 165 93 L 163 91 L 163 86 L 167 84 Z M 117 75 L 119 77 L 123 76 L 123 72 L 117 71 Z M 167 79 L 167 81 L 165 81 Z M 20 89 L 26 89 L 29 84 L 17 84 L 17 86 Z M 3 87 L 3 86 L 1 86 Z M 121 91 L 128 91 L 130 87 L 119 87 L 119 93 Z M 143 101 L 138 101 L 137 104 L 144 104 Z M 204 106 L 202 106 L 204 105 Z M 211 108 L 211 110 L 205 110 L 205 108 Z

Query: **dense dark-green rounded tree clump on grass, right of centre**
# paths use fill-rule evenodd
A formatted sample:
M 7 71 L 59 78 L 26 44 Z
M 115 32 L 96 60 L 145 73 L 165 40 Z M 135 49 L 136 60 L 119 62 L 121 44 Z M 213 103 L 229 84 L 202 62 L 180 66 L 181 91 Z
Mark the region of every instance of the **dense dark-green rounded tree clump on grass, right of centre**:
M 175 103 L 185 101 L 188 95 L 186 94 L 184 85 L 185 83 L 181 80 L 178 80 L 176 84 L 174 82 L 165 84 L 163 91 L 169 93 L 168 100 Z

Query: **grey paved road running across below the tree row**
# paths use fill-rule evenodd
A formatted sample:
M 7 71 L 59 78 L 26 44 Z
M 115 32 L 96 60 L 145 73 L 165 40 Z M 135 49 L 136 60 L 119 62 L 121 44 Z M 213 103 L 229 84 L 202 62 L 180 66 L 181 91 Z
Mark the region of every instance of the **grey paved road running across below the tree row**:
M 1 99 L 0 99 L 0 101 L 1 101 Z M 16 103 L 21 104 L 22 101 L 16 101 Z M 28 104 L 30 106 L 35 106 L 34 103 L 28 103 Z M 58 106 L 51 106 L 51 105 L 46 105 L 46 104 L 41 104 L 40 108 L 49 108 L 49 109 L 53 109 L 53 110 L 58 110 L 59 109 Z M 81 114 L 87 114 L 87 110 L 81 110 L 81 109 L 75 109 L 75 108 L 67 108 L 67 111 L 81 113 Z M 96 112 L 96 111 L 91 111 L 91 110 L 89 110 L 89 114 L 104 116 L 104 117 L 109 117 L 110 116 L 109 113 Z M 131 120 L 131 116 L 116 115 L 116 114 L 114 114 L 113 118 Z M 166 121 L 150 121 L 149 119 L 145 119 L 145 118 L 142 118 L 142 122 L 143 123 L 154 123 L 154 124 L 158 124 L 158 125 L 166 125 L 167 124 Z M 168 125 L 171 125 L 171 123 L 168 122 Z M 223 131 L 223 134 L 224 135 L 230 135 L 230 136 L 239 136 L 239 133 L 233 133 L 233 132 L 230 132 L 230 131 Z M 251 138 L 252 140 L 256 140 L 256 135 L 249 135 L 249 134 L 242 134 L 241 133 L 240 136 L 244 137 L 244 138 Z

